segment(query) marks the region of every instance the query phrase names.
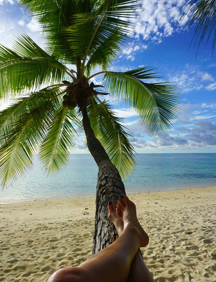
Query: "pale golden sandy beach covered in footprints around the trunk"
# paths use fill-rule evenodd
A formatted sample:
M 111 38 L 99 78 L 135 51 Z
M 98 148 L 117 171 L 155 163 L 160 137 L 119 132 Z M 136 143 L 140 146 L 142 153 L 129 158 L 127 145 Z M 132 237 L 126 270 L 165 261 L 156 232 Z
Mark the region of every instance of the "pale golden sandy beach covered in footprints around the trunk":
M 130 194 L 155 281 L 216 281 L 216 187 Z M 0 205 L 0 281 L 42 281 L 92 254 L 94 198 Z

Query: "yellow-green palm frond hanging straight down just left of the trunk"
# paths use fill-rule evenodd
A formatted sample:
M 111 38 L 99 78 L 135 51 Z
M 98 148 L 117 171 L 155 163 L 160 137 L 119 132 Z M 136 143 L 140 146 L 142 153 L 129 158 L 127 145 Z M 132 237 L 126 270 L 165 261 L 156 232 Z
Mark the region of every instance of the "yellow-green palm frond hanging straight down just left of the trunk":
M 70 120 L 78 122 L 76 110 L 60 107 L 50 119 L 47 134 L 39 150 L 42 166 L 47 174 L 55 174 L 65 167 L 76 130 Z

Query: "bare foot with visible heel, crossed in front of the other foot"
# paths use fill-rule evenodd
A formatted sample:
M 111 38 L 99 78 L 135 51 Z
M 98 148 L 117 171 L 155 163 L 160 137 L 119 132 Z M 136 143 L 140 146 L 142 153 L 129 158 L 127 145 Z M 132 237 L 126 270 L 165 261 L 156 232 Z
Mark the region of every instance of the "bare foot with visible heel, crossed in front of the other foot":
M 121 195 L 117 202 L 117 216 L 123 221 L 124 229 L 127 226 L 135 227 L 140 237 L 140 247 L 146 247 L 149 244 L 149 236 L 143 230 L 136 217 L 136 205 L 128 199 L 126 195 Z

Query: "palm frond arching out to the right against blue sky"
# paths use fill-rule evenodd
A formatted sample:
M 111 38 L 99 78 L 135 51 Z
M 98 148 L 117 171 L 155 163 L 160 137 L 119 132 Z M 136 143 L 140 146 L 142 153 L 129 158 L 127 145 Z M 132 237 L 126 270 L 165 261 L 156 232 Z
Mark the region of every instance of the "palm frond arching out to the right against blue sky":
M 158 78 L 148 68 L 127 72 L 110 72 L 103 82 L 108 91 L 126 105 L 133 107 L 151 133 L 164 133 L 177 118 L 179 97 L 176 87 L 169 83 L 146 83 L 141 79 Z

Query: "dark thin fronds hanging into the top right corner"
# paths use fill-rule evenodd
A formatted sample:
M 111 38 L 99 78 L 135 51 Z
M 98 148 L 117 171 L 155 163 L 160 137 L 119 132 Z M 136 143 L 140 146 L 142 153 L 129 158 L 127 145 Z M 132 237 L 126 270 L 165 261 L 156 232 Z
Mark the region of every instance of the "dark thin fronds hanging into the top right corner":
M 182 20 L 188 16 L 188 21 L 185 25 L 188 29 L 194 27 L 194 36 L 190 44 L 194 40 L 194 46 L 198 44 L 197 52 L 200 44 L 206 39 L 207 44 L 209 39 L 212 40 L 212 53 L 215 48 L 216 41 L 216 2 L 215 0 L 190 0 L 185 7 Z

